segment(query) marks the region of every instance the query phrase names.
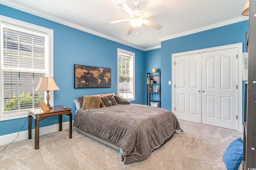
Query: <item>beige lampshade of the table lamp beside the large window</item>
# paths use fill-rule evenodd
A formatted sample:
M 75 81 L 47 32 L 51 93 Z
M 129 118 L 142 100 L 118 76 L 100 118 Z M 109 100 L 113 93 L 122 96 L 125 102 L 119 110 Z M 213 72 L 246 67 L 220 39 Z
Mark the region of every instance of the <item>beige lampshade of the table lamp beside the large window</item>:
M 41 77 L 35 91 L 60 90 L 53 77 Z

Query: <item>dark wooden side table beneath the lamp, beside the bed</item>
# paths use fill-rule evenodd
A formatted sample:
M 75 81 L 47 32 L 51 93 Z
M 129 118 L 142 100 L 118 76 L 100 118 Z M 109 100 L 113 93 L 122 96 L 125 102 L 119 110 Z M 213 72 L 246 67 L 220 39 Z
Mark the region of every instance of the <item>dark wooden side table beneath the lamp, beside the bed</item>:
M 30 109 L 28 116 L 28 139 L 31 139 L 32 117 L 35 119 L 35 149 L 39 149 L 39 123 L 46 117 L 59 115 L 59 131 L 62 131 L 62 115 L 69 116 L 69 138 L 72 138 L 72 112 L 70 108 L 53 106 L 50 111 L 43 112 L 42 109 Z

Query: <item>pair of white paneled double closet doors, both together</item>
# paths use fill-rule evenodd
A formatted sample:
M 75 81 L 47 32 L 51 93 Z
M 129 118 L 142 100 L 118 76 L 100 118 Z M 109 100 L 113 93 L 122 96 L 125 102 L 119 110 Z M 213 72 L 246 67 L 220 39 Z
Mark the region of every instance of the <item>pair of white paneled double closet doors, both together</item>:
M 237 49 L 174 59 L 175 114 L 178 119 L 237 129 Z

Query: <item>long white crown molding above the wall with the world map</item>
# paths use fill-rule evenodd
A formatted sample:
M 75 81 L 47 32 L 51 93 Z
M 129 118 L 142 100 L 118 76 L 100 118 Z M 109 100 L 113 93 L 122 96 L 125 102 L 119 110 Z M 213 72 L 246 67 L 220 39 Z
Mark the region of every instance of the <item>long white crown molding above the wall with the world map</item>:
M 84 32 L 87 32 L 87 33 L 90 33 L 90 34 L 93 34 L 93 35 L 96 35 L 96 36 L 99 36 L 99 37 L 102 37 L 102 38 L 105 38 L 105 39 L 109 39 L 111 41 L 115 41 L 117 43 L 120 43 L 120 44 L 123 44 L 123 45 L 127 45 L 129 47 L 133 47 L 135 49 L 139 49 L 139 50 L 145 51 L 144 48 L 132 45 L 132 44 L 127 43 L 125 41 L 122 41 L 120 39 L 116 39 L 114 37 L 110 37 L 108 35 L 99 33 L 97 31 L 93 31 L 92 29 L 88 29 L 86 27 L 82 27 L 82 26 L 77 25 L 75 23 L 72 23 L 72 22 L 69 22 L 69 21 L 66 21 L 66 20 L 62 20 L 60 18 L 51 16 L 49 14 L 46 14 L 44 12 L 40 12 L 38 10 L 34 10 L 32 8 L 29 8 L 27 6 L 23 6 L 21 4 L 15 3 L 15 2 L 10 2 L 8 0 L 0 0 L 0 4 L 3 4 L 5 6 L 8 6 L 8 7 L 11 7 L 11 8 L 20 10 L 20 11 L 23 11 L 23 12 L 27 12 L 29 14 L 32 14 L 32 15 L 35 15 L 35 16 L 38 16 L 38 17 L 41 17 L 41 18 L 44 18 L 44 19 L 47 19 L 47 20 L 50 20 L 50 21 L 54 21 L 54 22 L 60 23 L 60 24 L 63 24 L 63 25 L 66 25 L 66 26 L 69 26 L 69 27 L 72 27 L 72 28 L 75 28 L 75 29 L 79 29 L 81 31 L 84 31 Z

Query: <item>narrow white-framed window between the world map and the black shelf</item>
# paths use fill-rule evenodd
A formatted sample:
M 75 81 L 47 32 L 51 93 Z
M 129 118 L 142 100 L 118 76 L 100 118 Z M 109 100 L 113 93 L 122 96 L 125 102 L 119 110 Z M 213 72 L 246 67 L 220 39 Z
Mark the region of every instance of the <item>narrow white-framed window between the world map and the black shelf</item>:
M 117 49 L 118 53 L 118 96 L 135 100 L 135 53 Z

